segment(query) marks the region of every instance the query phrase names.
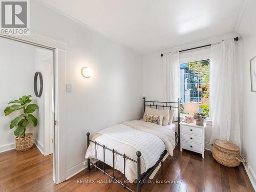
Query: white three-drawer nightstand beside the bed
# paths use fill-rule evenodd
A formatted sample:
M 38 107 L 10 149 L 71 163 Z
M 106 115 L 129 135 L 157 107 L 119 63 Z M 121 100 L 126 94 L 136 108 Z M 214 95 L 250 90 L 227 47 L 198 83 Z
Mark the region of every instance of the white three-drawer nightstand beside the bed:
M 204 158 L 205 127 L 206 123 L 197 125 L 196 122 L 180 122 L 180 151 L 182 152 L 182 148 L 185 148 L 202 154 Z

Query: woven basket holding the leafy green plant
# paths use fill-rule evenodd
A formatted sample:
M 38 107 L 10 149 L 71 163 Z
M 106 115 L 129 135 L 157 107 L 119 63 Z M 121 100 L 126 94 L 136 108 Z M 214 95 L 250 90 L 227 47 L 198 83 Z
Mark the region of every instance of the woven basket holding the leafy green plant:
M 25 137 L 22 137 L 22 138 L 15 137 L 15 141 L 16 141 L 17 152 L 27 151 L 33 146 L 33 134 L 26 133 Z

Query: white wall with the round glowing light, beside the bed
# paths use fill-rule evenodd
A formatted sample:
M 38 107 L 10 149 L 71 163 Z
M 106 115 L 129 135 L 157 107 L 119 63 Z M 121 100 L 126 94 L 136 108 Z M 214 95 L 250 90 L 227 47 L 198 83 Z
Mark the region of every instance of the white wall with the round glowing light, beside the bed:
M 31 29 L 67 43 L 67 177 L 84 168 L 86 133 L 142 114 L 142 56 L 38 1 L 31 1 Z M 81 76 L 84 66 L 94 75 Z

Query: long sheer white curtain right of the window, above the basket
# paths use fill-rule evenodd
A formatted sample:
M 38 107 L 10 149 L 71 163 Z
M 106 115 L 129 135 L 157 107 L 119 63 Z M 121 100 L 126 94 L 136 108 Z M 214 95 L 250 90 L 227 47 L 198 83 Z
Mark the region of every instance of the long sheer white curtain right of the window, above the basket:
M 213 44 L 210 58 L 211 143 L 223 139 L 241 147 L 236 74 L 234 40 Z

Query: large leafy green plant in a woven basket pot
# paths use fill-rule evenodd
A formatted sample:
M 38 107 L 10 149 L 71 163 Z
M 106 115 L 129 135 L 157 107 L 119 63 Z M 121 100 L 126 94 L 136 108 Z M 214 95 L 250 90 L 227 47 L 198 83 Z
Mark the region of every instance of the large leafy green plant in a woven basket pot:
M 23 152 L 29 150 L 33 146 L 33 134 L 26 134 L 26 127 L 29 123 L 32 123 L 34 127 L 37 125 L 37 119 L 31 113 L 38 110 L 37 104 L 29 104 L 31 102 L 31 95 L 24 95 L 18 100 L 9 102 L 11 106 L 5 108 L 5 116 L 11 114 L 14 111 L 22 111 L 22 114 L 14 118 L 10 123 L 10 129 L 14 127 L 16 150 L 18 152 Z M 16 103 L 16 104 L 14 104 Z

